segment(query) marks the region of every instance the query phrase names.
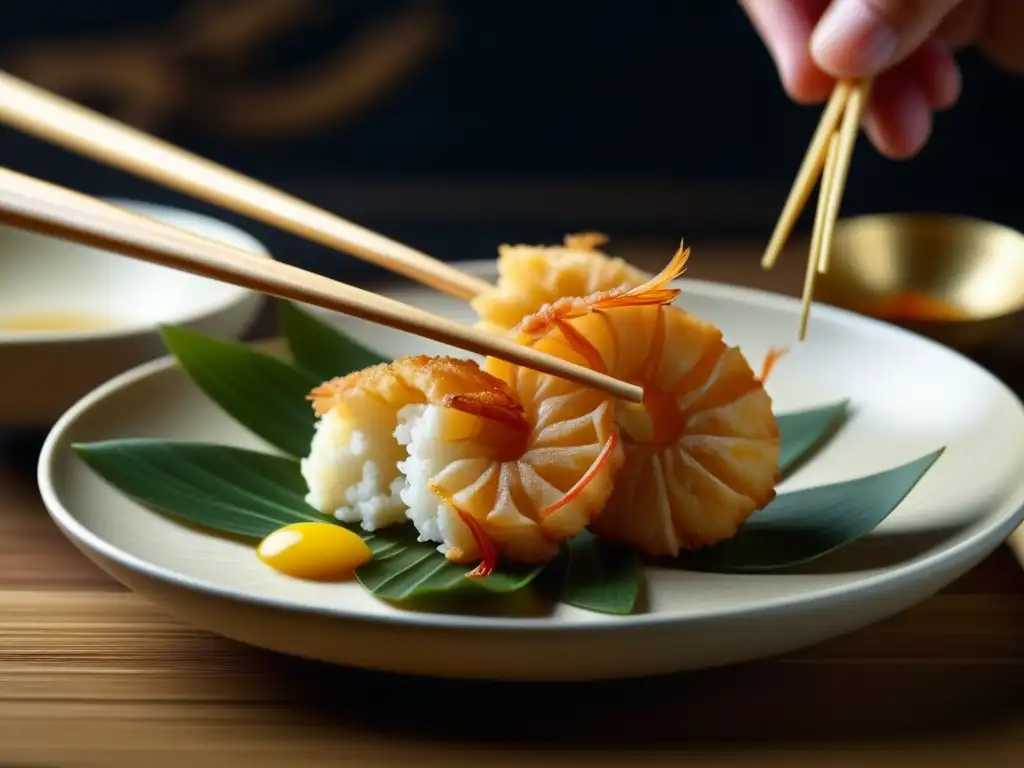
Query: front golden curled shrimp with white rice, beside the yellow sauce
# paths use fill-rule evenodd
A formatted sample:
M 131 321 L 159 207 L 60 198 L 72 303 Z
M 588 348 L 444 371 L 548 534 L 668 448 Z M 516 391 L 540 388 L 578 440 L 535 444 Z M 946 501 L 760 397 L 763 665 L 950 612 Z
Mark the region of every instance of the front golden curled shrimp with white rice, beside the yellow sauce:
M 623 462 L 612 401 L 545 374 L 506 374 L 419 355 L 322 385 L 302 462 L 310 504 L 371 530 L 408 518 L 450 560 L 480 561 L 474 575 L 499 557 L 552 558 L 611 493 Z

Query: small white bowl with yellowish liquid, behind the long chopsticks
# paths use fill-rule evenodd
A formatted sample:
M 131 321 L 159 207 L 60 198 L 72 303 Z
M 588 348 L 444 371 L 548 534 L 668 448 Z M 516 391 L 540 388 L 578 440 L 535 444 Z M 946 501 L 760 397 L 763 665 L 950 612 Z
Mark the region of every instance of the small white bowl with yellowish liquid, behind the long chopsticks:
M 110 202 L 270 257 L 209 216 Z M 165 354 L 161 325 L 238 338 L 261 304 L 236 286 L 0 226 L 0 427 L 49 426 L 102 382 Z

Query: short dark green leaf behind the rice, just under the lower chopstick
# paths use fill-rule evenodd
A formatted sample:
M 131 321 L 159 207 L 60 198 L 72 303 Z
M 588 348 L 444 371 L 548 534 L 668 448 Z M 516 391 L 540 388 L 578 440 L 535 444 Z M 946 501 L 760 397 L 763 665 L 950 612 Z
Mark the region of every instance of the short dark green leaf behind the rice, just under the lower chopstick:
M 276 307 L 295 362 L 322 381 L 388 361 L 290 301 L 279 299 Z

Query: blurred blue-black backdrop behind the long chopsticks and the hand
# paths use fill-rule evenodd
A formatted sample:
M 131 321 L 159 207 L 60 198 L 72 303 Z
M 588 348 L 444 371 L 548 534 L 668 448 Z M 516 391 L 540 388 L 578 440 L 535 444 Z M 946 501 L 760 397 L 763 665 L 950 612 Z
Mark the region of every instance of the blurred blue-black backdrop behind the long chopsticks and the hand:
M 245 11 L 230 0 L 191 7 L 204 2 L 224 17 Z M 279 24 L 230 66 L 209 50 L 176 59 L 168 82 L 182 79 L 190 95 L 141 127 L 445 259 L 493 256 L 500 242 L 554 241 L 579 228 L 670 243 L 763 241 L 820 114 L 786 99 L 731 0 L 309 4 L 316 7 L 308 17 Z M 67 50 L 86 39 L 92 50 L 110 50 L 106 41 L 144 50 L 153 36 L 180 43 L 196 29 L 181 25 L 188 7 L 5 2 L 0 66 L 51 87 L 26 65 L 33 46 Z M 372 45 L 374 27 L 403 13 L 427 14 L 443 40 L 366 109 L 273 135 L 216 124 L 238 88 L 259 93 L 315 77 L 332 55 L 360 36 Z M 133 60 L 122 74 L 145 83 L 163 77 L 133 70 Z M 858 143 L 844 215 L 946 211 L 1024 228 L 1024 80 L 970 53 L 962 62 L 963 100 L 938 117 L 919 158 L 896 163 Z M 65 75 L 81 69 L 74 59 L 52 67 Z M 123 96 L 102 88 L 68 95 L 133 119 L 119 112 Z M 90 194 L 214 212 L 278 258 L 338 276 L 372 269 L 6 129 L 0 163 Z

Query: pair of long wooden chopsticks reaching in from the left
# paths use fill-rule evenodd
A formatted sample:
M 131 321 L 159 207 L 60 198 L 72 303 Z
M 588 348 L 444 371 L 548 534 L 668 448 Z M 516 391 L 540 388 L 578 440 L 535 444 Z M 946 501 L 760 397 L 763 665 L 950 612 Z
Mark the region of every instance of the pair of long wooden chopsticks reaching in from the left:
M 266 184 L 0 72 L 0 123 L 347 251 L 461 299 L 490 284 Z M 643 401 L 642 388 L 454 321 L 184 232 L 84 195 L 0 170 L 0 219 L 173 268 L 302 301 Z

